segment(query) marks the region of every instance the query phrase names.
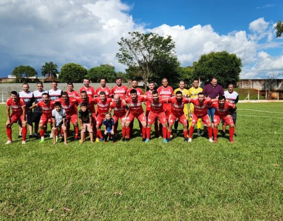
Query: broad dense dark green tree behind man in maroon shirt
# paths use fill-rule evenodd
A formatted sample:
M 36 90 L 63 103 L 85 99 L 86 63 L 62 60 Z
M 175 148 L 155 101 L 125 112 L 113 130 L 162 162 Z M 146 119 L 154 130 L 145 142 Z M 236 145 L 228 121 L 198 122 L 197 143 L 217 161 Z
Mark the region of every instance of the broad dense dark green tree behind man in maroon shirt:
M 218 83 L 224 87 L 239 81 L 241 67 L 241 59 L 227 51 L 203 54 L 199 61 L 193 64 L 195 77 L 199 77 L 203 82 L 209 82 L 212 77 L 217 77 Z

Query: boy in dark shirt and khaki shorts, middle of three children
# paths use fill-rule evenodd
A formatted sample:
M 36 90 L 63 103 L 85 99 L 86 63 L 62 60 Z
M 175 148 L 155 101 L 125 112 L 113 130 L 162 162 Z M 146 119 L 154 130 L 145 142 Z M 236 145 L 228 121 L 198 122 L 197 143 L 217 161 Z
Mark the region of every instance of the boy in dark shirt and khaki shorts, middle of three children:
M 89 132 L 90 143 L 93 143 L 92 112 L 87 108 L 87 104 L 85 102 L 83 102 L 81 104 L 81 110 L 79 110 L 78 117 L 79 117 L 80 124 L 81 124 L 81 141 L 80 141 L 80 143 L 82 144 L 85 141 L 86 128 L 88 129 L 88 132 Z

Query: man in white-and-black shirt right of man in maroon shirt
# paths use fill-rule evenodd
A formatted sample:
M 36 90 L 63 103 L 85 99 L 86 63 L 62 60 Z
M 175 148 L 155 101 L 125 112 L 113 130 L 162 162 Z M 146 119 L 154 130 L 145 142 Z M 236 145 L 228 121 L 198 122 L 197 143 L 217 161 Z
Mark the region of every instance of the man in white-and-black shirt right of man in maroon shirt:
M 237 104 L 239 101 L 239 94 L 234 91 L 234 85 L 233 84 L 229 84 L 228 85 L 228 90 L 224 91 L 224 96 L 226 97 L 226 100 L 229 101 L 232 104 Z M 233 119 L 234 122 L 234 129 L 236 130 L 236 119 L 237 119 L 237 112 L 236 111 L 232 111 L 231 113 L 229 113 Z M 222 120 L 222 135 L 225 136 L 226 133 L 226 125 Z M 237 136 L 237 134 L 234 132 L 234 136 Z

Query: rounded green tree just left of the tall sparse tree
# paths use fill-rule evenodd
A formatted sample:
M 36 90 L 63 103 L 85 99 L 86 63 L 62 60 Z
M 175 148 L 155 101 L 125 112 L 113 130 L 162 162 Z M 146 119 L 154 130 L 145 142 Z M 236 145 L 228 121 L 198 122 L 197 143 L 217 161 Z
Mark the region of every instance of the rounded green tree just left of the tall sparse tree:
M 107 82 L 115 83 L 116 72 L 115 67 L 109 64 L 103 64 L 98 67 L 93 67 L 88 70 L 87 77 L 93 82 L 100 82 L 100 79 L 105 77 Z

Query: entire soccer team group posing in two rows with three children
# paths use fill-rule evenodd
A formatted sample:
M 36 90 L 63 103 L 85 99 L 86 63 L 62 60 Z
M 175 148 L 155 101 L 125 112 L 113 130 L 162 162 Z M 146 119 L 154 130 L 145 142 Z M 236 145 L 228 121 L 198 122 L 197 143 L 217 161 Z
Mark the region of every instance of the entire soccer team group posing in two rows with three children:
M 167 143 L 171 142 L 172 133 L 174 130 L 176 133 L 179 123 L 183 125 L 184 142 L 192 142 L 195 125 L 197 135 L 201 136 L 203 124 L 203 136 L 208 134 L 209 142 L 217 143 L 220 121 L 222 135 L 225 136 L 225 128 L 229 126 L 229 140 L 235 142 L 233 136 L 236 136 L 235 104 L 238 102 L 238 94 L 234 91 L 233 84 L 224 92 L 217 84 L 217 78 L 213 78 L 211 84 L 202 89 L 199 87 L 199 79 L 196 78 L 190 89 L 185 89 L 185 84 L 181 81 L 179 88 L 173 91 L 167 79 L 163 78 L 162 86 L 157 90 L 155 83 L 150 82 L 149 90 L 145 94 L 137 87 L 137 81 L 133 80 L 131 88 L 127 88 L 122 85 L 121 77 L 117 77 L 116 86 L 112 89 L 106 86 L 105 78 L 101 79 L 101 87 L 97 90 L 89 85 L 89 79 L 84 79 L 83 84 L 79 92 L 73 90 L 72 83 L 68 83 L 68 90 L 63 92 L 57 88 L 56 82 L 51 83 L 52 89 L 49 91 L 44 90 L 40 82 L 36 84 L 37 90 L 34 92 L 29 91 L 28 84 L 23 84 L 23 91 L 20 93 L 12 91 L 6 102 L 6 144 L 12 143 L 11 128 L 14 123 L 19 125 L 18 137 L 22 137 L 22 144 L 26 144 L 27 128 L 30 138 L 40 137 L 40 142 L 44 142 L 49 123 L 53 144 L 61 137 L 67 145 L 71 124 L 74 128 L 74 140 L 79 140 L 80 143 L 85 142 L 86 131 L 89 132 L 91 143 L 93 140 L 107 142 L 108 138 L 116 143 L 119 121 L 122 141 L 125 142 L 133 137 L 135 118 L 139 122 L 142 141 L 146 143 L 150 141 L 153 124 L 155 135 L 163 137 L 163 142 Z M 143 110 L 143 103 L 146 104 L 146 112 Z

